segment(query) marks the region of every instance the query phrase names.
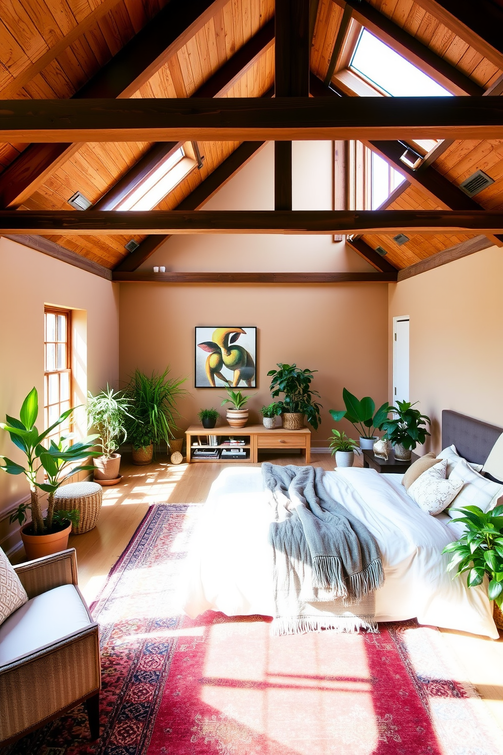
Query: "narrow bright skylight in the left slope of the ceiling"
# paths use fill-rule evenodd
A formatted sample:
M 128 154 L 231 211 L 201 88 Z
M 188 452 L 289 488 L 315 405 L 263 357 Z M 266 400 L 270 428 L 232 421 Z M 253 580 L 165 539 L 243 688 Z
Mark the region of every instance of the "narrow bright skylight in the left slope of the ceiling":
M 135 189 L 122 200 L 117 210 L 152 210 L 198 165 L 186 156 L 183 148 L 163 160 Z

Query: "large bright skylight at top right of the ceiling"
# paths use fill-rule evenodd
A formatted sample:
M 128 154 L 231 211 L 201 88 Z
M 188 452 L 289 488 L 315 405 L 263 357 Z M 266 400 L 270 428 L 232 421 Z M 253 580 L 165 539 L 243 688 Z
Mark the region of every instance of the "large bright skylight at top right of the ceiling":
M 349 67 L 390 97 L 452 97 L 367 29 L 362 29 Z

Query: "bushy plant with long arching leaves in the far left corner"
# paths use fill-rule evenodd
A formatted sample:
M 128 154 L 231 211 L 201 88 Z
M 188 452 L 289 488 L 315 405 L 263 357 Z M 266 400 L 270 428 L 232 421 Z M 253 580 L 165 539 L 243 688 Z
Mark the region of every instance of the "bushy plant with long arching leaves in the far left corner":
M 186 396 L 185 377 L 167 377 L 170 368 L 147 375 L 135 370 L 126 388 L 130 399 L 130 418 L 126 421 L 127 437 L 133 448 L 133 464 L 149 464 L 155 445 L 165 442 L 169 448 L 176 429 L 179 411 L 176 399 Z

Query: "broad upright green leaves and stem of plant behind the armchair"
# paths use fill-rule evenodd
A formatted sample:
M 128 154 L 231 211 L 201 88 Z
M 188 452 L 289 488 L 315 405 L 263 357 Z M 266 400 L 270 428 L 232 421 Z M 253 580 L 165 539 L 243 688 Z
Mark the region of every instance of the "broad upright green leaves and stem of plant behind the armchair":
M 0 464 L 2 468 L 8 474 L 19 475 L 23 474 L 28 483 L 30 491 L 30 503 L 21 504 L 16 511 L 11 515 L 11 522 L 16 519 L 23 524 L 26 519 L 26 510 L 31 509 L 32 512 L 32 530 L 34 535 L 45 535 L 51 532 L 51 529 L 57 525 L 54 521 L 54 493 L 57 488 L 65 482 L 66 479 L 71 477 L 77 472 L 82 470 L 92 470 L 94 467 L 88 466 L 75 466 L 78 461 L 87 459 L 91 456 L 99 456 L 99 451 L 92 451 L 94 441 L 97 438 L 96 435 L 89 436 L 88 438 L 74 442 L 70 444 L 71 436 L 62 436 L 55 442 L 51 439 L 48 447 L 44 446 L 44 441 L 60 424 L 69 418 L 72 411 L 75 408 L 67 409 L 63 411 L 60 418 L 57 419 L 51 427 L 44 430 L 43 433 L 39 433 L 35 427 L 35 422 L 38 417 L 38 393 L 33 388 L 26 399 L 23 401 L 23 405 L 20 411 L 20 419 L 10 417 L 6 415 L 6 422 L 0 423 L 0 428 L 6 430 L 11 436 L 11 441 L 20 451 L 23 451 L 26 456 L 26 466 L 17 464 L 16 461 L 11 461 L 5 456 L 2 456 L 3 464 Z M 44 470 L 45 481 L 39 482 L 41 471 Z M 41 505 L 39 501 L 39 491 L 48 493 L 48 513 L 45 519 L 42 517 Z M 57 516 L 58 528 L 60 529 L 59 520 L 61 519 L 60 513 Z M 69 516 L 65 519 L 69 520 Z

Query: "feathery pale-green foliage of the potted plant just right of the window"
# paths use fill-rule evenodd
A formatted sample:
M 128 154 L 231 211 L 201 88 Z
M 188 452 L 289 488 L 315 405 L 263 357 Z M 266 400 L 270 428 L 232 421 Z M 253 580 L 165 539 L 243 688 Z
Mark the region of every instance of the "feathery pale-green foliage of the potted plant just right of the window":
M 100 436 L 99 445 L 107 459 L 127 439 L 126 418 L 130 417 L 130 405 L 131 400 L 124 395 L 124 391 L 115 391 L 108 383 L 97 396 L 88 393 L 87 422 L 89 427 L 96 427 Z

